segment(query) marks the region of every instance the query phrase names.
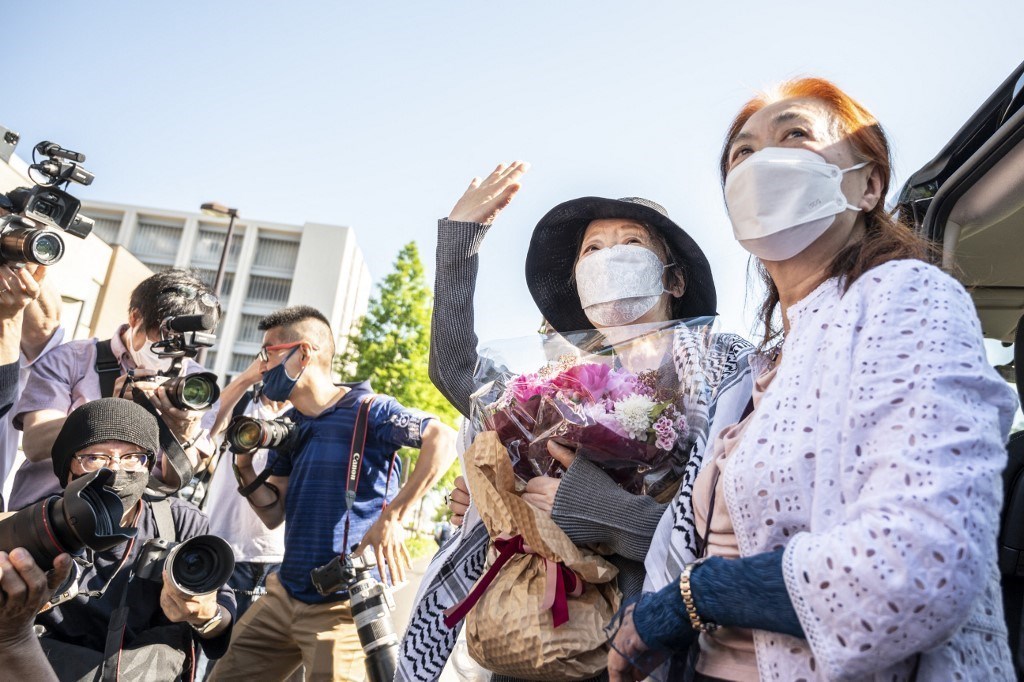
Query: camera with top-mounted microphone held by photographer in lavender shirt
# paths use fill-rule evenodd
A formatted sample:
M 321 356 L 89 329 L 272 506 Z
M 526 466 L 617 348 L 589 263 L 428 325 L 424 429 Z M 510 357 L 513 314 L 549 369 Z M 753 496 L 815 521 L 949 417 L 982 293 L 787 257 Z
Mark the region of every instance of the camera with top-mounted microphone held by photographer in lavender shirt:
M 170 369 L 158 372 L 159 377 L 168 377 L 162 384 L 167 396 L 178 410 L 209 410 L 220 397 L 217 375 L 212 372 L 181 374 L 185 357 L 195 357 L 201 348 L 210 348 L 217 341 L 211 333 L 216 326 L 213 315 L 178 315 L 167 317 L 160 325 L 161 341 L 153 344 L 153 350 L 161 357 L 171 357 Z M 129 372 L 125 386 L 135 381 L 146 381 L 148 377 L 136 377 Z

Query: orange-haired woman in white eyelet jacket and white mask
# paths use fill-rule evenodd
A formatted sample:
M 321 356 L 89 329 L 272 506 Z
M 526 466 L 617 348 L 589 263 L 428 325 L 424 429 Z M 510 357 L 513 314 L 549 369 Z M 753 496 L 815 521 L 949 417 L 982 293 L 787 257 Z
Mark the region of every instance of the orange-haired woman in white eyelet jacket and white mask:
M 689 648 L 697 680 L 1012 680 L 995 539 L 1016 398 L 968 293 L 884 210 L 881 127 L 792 81 L 741 110 L 722 177 L 780 352 L 659 526 L 658 591 L 611 679 Z

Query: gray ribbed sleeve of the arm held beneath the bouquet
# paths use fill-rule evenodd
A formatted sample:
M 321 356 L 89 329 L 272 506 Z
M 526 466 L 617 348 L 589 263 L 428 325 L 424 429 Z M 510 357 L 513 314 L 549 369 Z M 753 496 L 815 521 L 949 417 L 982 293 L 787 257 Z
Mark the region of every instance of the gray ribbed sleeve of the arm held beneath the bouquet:
M 633 495 L 592 462 L 578 457 L 562 475 L 551 518 L 575 545 L 606 545 L 643 561 L 666 504 Z

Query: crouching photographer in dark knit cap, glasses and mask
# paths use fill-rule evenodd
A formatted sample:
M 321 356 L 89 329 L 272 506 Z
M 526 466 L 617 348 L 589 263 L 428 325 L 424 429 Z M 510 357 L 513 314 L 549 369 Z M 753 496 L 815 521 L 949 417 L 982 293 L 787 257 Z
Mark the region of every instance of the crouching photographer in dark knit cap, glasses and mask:
M 143 497 L 159 443 L 157 418 L 121 398 L 74 410 L 54 440 L 57 478 L 68 485 L 112 471 L 106 489 L 120 498 L 122 527 L 134 530 L 111 549 L 83 550 L 77 595 L 65 592 L 68 601 L 36 619 L 60 679 L 93 679 L 103 666 L 116 666 L 121 680 L 188 679 L 196 644 L 210 658 L 227 647 L 234 621 L 234 597 L 223 586 L 229 549 L 224 546 L 224 562 L 206 536 L 206 516 L 191 503 Z M 174 558 L 174 550 L 180 556 L 188 547 L 198 549 Z

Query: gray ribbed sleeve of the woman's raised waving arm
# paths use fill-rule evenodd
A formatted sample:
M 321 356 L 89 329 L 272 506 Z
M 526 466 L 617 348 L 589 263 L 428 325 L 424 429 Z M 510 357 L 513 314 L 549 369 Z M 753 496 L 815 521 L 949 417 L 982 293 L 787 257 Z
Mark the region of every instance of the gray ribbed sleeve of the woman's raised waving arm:
M 434 311 L 430 322 L 430 381 L 449 402 L 469 417 L 469 396 L 478 355 L 473 331 L 473 294 L 479 250 L 489 225 L 437 221 Z

